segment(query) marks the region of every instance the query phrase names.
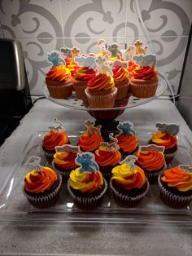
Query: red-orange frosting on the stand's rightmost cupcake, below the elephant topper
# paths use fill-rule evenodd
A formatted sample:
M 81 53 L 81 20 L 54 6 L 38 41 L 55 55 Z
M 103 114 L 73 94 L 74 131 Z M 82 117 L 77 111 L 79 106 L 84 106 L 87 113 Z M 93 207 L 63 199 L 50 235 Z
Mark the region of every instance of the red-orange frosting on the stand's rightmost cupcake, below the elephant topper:
M 133 71 L 134 79 L 142 79 L 142 80 L 157 80 L 156 69 L 153 67 L 136 67 Z

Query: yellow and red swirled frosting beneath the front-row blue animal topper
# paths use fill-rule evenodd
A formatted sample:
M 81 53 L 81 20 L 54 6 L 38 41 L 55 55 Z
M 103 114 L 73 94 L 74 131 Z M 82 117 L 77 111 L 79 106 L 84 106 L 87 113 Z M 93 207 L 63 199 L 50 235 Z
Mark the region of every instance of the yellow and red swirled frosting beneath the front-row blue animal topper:
M 79 173 L 79 169 L 80 167 L 70 173 L 70 187 L 90 193 L 103 185 L 103 176 L 99 170 L 95 173 Z

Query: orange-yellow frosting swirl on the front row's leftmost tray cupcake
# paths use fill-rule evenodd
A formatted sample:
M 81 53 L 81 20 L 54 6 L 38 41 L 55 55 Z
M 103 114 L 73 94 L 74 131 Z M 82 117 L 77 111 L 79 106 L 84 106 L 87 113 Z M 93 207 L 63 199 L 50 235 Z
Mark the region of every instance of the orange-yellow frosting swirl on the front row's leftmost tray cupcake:
M 54 170 L 49 167 L 42 167 L 41 172 L 32 170 L 26 174 L 24 179 L 24 188 L 28 192 L 40 193 L 49 190 L 55 180 L 58 179 Z

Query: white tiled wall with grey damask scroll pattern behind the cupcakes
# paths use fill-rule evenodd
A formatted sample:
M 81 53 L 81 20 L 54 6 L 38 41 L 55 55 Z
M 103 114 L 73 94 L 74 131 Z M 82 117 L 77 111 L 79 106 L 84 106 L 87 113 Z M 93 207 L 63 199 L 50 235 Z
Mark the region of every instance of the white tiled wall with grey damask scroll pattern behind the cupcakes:
M 192 20 L 191 0 L 138 0 L 157 55 L 157 67 L 177 93 Z M 47 52 L 78 46 L 97 52 L 98 39 L 148 45 L 136 0 L 0 0 L 0 38 L 17 38 L 32 95 L 42 95 Z M 169 92 L 167 92 L 168 94 Z

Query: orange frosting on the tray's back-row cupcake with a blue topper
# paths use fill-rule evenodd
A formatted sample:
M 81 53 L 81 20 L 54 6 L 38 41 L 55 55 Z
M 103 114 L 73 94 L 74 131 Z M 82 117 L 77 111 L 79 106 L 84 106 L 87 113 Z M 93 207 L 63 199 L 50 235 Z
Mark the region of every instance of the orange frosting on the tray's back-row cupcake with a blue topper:
M 135 135 L 116 135 L 116 139 L 124 152 L 131 153 L 137 148 L 138 141 Z

